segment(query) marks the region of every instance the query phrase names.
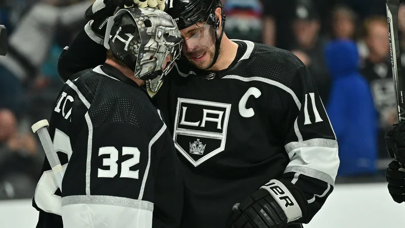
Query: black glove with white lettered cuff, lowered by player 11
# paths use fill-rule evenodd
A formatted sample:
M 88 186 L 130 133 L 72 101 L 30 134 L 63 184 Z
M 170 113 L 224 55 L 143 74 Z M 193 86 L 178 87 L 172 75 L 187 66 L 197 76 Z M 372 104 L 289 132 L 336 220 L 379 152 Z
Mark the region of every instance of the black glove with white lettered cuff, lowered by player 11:
M 309 206 L 293 183 L 271 180 L 232 210 L 227 228 L 284 228 L 307 217 Z

